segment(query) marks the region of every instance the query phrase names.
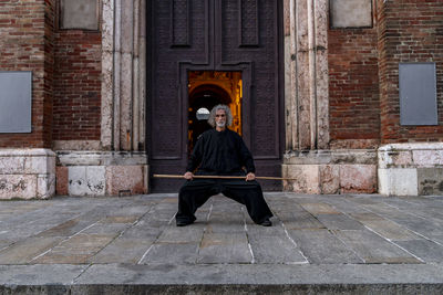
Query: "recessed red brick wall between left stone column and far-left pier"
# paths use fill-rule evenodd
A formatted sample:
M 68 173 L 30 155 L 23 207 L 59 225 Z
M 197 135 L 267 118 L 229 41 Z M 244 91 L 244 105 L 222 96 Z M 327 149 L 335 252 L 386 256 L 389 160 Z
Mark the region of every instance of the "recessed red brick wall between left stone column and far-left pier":
M 99 140 L 101 33 L 55 33 L 54 140 Z

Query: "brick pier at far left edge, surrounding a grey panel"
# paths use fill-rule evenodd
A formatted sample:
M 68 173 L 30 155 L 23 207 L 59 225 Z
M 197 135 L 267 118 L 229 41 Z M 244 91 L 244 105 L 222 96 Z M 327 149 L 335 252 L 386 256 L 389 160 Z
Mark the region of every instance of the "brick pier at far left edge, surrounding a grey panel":
M 53 4 L 52 0 L 0 1 L 0 71 L 32 71 L 32 133 L 0 134 L 0 147 L 51 145 Z

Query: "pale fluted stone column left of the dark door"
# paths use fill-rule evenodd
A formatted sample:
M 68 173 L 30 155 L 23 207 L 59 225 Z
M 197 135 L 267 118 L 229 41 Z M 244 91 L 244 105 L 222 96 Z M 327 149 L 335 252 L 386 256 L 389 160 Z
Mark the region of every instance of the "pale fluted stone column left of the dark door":
M 144 149 L 146 3 L 104 0 L 102 7 L 102 146 Z

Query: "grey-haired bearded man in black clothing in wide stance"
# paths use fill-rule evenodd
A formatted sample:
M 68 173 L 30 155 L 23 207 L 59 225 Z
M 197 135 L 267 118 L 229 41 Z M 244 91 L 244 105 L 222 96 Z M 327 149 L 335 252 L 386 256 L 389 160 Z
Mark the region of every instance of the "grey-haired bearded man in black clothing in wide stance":
M 270 226 L 272 212 L 255 180 L 255 166 L 250 151 L 241 137 L 227 128 L 233 122 L 229 107 L 217 105 L 209 115 L 208 123 L 215 129 L 203 133 L 189 158 L 184 178 L 187 180 L 178 193 L 177 226 L 195 221 L 195 211 L 212 196 L 223 193 L 245 204 L 250 218 L 257 224 Z M 205 176 L 245 176 L 245 179 L 194 179 Z M 245 173 L 246 169 L 246 173 Z

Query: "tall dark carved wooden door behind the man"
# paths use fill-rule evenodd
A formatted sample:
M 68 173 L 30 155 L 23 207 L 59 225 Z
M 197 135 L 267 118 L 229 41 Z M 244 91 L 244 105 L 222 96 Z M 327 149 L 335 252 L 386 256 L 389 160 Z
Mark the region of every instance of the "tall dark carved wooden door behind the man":
M 281 175 L 284 150 L 282 1 L 151 0 L 148 1 L 147 150 L 152 173 L 182 175 L 198 106 L 233 97 L 217 83 L 189 91 L 189 77 L 208 74 L 241 81 L 238 130 L 251 150 L 258 176 Z M 204 98 L 207 99 L 204 99 Z M 233 109 L 233 108 L 231 108 Z M 193 123 L 189 124 L 189 120 Z M 192 135 L 189 136 L 189 130 Z M 176 192 L 183 180 L 151 178 L 152 192 Z M 261 182 L 280 190 L 279 181 Z

